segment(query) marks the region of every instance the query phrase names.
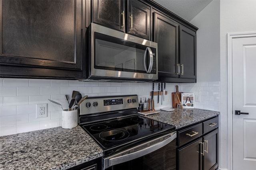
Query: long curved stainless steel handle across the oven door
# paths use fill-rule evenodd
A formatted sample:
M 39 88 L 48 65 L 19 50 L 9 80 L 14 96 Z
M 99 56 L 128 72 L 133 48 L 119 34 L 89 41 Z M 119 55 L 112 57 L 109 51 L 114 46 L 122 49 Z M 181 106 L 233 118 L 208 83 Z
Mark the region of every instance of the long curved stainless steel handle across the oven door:
M 131 149 L 124 150 L 123 152 L 120 152 L 118 154 L 103 158 L 103 168 L 106 169 L 110 166 L 127 162 L 129 160 L 136 159 L 151 152 L 154 152 L 155 150 L 158 150 L 167 145 L 168 143 L 172 142 L 174 139 L 176 139 L 176 131 L 149 141 L 147 143 L 143 143 Z

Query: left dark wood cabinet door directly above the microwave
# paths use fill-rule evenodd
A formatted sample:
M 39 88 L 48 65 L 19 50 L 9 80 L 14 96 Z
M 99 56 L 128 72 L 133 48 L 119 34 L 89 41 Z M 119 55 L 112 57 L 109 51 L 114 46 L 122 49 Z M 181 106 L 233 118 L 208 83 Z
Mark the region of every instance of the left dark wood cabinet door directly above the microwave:
M 93 22 L 124 32 L 124 1 L 94 0 Z

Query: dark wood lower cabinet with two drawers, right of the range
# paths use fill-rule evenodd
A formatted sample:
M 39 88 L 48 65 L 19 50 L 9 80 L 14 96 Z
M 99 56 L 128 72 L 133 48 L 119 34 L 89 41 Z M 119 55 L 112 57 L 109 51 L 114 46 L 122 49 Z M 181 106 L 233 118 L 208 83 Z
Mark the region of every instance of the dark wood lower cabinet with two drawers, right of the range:
M 177 170 L 218 168 L 218 117 L 178 129 L 177 134 Z

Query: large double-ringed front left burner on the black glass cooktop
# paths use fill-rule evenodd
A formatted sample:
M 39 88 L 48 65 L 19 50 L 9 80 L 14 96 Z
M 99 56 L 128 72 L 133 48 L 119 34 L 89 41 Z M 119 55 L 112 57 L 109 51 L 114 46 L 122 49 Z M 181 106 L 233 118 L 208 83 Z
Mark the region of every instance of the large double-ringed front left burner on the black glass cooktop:
M 100 138 L 105 141 L 122 141 L 129 137 L 129 132 L 123 129 L 110 129 L 100 133 Z

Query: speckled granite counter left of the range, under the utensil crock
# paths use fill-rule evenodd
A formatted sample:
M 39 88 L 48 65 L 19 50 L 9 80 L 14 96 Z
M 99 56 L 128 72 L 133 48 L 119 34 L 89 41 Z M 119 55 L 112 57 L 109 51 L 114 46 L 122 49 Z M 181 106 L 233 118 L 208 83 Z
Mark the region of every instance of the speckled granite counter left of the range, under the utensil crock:
M 0 170 L 64 170 L 101 156 L 103 150 L 80 126 L 0 137 Z

